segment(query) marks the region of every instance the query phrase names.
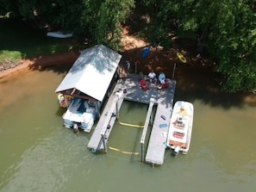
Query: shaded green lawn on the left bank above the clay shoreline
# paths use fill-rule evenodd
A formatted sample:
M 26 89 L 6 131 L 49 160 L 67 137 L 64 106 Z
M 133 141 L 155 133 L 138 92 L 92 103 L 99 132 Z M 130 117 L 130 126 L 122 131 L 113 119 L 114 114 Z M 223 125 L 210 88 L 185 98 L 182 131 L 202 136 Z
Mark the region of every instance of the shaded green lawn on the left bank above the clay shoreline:
M 73 38 L 47 37 L 47 30 L 14 18 L 0 18 L 0 61 L 31 59 L 41 55 L 78 50 Z

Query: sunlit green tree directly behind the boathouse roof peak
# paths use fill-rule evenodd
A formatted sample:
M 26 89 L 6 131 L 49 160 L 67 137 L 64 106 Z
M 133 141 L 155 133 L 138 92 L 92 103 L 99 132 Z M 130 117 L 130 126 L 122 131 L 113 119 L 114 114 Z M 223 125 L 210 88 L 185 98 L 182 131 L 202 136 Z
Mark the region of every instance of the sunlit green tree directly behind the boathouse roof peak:
M 97 43 L 121 51 L 122 22 L 126 22 L 134 0 L 84 0 L 81 26 L 90 30 Z

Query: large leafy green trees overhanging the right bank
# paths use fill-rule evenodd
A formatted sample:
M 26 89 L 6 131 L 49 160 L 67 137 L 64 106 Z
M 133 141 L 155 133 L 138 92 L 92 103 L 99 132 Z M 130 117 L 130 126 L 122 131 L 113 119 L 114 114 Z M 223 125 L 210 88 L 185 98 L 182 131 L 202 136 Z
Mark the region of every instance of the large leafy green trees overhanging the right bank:
M 229 92 L 256 87 L 256 11 L 253 0 L 151 0 L 158 6 L 154 18 L 165 33 L 175 27 L 179 38 L 197 40 L 197 53 L 206 49 L 222 74 L 222 88 Z M 155 23 L 155 22 L 154 22 Z

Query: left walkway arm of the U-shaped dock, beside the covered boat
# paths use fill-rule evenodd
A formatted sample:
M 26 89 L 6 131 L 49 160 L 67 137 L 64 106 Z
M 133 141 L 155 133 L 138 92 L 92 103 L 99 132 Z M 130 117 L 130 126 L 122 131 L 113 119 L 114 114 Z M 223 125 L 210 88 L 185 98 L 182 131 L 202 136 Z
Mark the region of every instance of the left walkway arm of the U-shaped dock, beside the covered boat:
M 119 109 L 122 106 L 123 96 L 122 93 L 117 92 L 109 97 L 109 100 L 103 109 L 102 116 L 97 122 L 97 126 L 91 135 L 88 143 L 88 148 L 91 152 L 107 151 L 106 142 L 114 126 L 118 116 Z

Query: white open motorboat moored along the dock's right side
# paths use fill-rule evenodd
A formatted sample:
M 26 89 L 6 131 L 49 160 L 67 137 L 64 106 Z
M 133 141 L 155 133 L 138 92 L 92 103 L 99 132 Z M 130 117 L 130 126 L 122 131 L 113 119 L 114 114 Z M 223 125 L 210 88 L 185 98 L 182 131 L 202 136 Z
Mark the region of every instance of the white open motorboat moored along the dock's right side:
M 194 107 L 190 102 L 175 102 L 167 137 L 167 146 L 174 150 L 175 157 L 178 152 L 187 154 L 190 149 L 193 114 Z

